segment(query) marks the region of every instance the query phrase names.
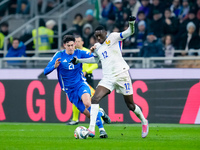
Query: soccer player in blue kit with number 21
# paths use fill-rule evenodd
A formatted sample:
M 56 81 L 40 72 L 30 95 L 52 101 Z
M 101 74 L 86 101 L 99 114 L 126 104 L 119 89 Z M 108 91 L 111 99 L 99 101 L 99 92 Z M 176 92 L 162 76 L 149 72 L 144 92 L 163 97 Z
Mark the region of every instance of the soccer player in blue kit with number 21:
M 56 52 L 44 69 L 44 74 L 48 75 L 54 69 L 57 69 L 58 81 L 62 90 L 66 92 L 70 102 L 73 103 L 81 113 L 90 118 L 90 88 L 83 76 L 82 64 L 74 65 L 70 61 L 73 57 L 89 58 L 93 55 L 79 49 L 75 50 L 75 38 L 72 35 L 64 36 L 63 46 L 65 49 Z M 103 127 L 101 117 L 105 119 L 105 122 L 110 118 L 104 111 L 99 111 L 96 119 L 96 125 L 99 127 L 100 131 L 100 138 L 107 138 L 108 135 Z

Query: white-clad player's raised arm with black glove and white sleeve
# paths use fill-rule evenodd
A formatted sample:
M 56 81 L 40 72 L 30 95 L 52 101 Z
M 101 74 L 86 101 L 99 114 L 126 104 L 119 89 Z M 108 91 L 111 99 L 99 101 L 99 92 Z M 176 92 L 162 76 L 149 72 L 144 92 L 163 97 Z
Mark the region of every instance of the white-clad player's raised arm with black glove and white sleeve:
M 131 36 L 135 32 L 135 26 L 134 26 L 135 20 L 136 20 L 136 18 L 134 16 L 129 17 L 129 21 L 128 21 L 129 27 L 128 27 L 128 29 L 126 29 L 125 31 L 122 32 L 122 36 L 124 39 Z

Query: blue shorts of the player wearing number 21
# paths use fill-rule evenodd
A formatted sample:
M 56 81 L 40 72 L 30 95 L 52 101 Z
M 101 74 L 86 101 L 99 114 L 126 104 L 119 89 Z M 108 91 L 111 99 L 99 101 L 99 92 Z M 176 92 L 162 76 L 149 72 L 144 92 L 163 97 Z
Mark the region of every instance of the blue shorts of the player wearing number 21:
M 83 111 L 85 110 L 85 105 L 81 100 L 81 96 L 84 93 L 89 93 L 91 95 L 91 91 L 87 82 L 82 82 L 78 87 L 67 92 L 67 96 L 70 102 L 73 103 L 81 113 L 83 113 Z

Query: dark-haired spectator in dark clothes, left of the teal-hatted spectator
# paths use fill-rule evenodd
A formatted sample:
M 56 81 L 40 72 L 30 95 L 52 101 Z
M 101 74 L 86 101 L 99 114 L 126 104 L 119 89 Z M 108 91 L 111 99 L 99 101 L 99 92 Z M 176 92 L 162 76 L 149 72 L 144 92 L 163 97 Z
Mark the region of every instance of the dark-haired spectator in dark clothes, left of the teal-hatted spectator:
M 77 13 L 74 16 L 73 26 L 76 28 L 77 32 L 82 36 L 82 28 L 83 28 L 83 16 L 80 13 Z

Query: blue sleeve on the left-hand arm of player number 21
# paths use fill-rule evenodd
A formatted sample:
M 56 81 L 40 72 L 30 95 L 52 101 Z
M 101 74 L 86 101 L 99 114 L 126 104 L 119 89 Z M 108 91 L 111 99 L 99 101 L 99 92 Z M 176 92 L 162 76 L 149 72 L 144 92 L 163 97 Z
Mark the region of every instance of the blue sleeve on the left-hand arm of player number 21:
M 59 58 L 59 57 L 60 57 L 60 53 L 56 52 L 54 54 L 54 56 L 52 57 L 52 59 L 49 61 L 46 68 L 44 69 L 44 75 L 48 75 L 49 73 L 51 73 L 55 69 L 54 65 L 55 65 L 56 59 Z

